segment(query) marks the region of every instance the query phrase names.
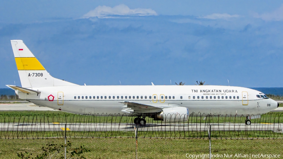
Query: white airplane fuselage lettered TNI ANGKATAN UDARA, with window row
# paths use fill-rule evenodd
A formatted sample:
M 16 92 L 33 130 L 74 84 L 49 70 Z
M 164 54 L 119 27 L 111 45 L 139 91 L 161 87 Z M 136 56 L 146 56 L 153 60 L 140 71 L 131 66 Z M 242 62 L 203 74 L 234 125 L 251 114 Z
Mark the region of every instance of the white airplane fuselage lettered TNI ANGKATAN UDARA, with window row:
M 125 105 L 119 102 L 123 101 L 164 108 L 186 107 L 190 114 L 200 112 L 202 114 L 214 115 L 262 114 L 274 110 L 278 104 L 270 98 L 258 98 L 257 95 L 260 95 L 261 92 L 257 90 L 234 86 L 77 85 L 32 89 L 41 91 L 41 93 L 36 95 L 19 92 L 19 98 L 26 99 L 39 106 L 77 114 L 122 114 L 125 113 L 123 111 Z M 125 98 L 126 96 L 127 99 Z M 130 99 L 129 96 L 131 96 Z

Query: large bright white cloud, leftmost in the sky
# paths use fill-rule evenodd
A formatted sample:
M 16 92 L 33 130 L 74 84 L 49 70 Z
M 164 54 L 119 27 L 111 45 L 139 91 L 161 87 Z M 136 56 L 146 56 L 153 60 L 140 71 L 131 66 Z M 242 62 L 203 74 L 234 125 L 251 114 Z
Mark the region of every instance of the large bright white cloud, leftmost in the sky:
M 125 4 L 120 4 L 115 7 L 98 6 L 95 9 L 89 11 L 83 15 L 83 18 L 98 17 L 103 18 L 108 15 L 157 15 L 152 9 L 136 8 L 130 9 Z

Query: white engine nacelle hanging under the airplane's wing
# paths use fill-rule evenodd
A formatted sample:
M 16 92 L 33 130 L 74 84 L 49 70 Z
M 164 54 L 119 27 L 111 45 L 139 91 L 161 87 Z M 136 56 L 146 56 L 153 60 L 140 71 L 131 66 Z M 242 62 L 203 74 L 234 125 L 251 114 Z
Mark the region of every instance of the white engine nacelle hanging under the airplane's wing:
M 161 112 L 151 116 L 153 120 L 163 122 L 185 122 L 189 116 L 189 109 L 186 107 L 170 107 L 162 109 Z

